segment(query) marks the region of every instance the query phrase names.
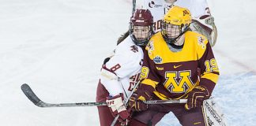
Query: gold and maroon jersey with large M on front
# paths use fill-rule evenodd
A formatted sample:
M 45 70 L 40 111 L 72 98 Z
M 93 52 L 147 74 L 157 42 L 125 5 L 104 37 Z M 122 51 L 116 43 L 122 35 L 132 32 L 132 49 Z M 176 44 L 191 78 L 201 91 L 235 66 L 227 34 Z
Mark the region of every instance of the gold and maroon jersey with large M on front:
M 186 98 L 196 85 L 213 91 L 219 69 L 205 36 L 186 31 L 183 49 L 172 52 L 161 33 L 156 33 L 145 48 L 141 86 L 149 86 L 161 98 Z

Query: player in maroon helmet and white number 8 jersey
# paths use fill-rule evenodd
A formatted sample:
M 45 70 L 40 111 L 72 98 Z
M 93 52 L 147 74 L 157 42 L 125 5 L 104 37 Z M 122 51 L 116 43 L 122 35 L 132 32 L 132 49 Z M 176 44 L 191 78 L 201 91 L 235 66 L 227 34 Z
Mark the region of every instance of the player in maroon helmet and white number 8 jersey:
M 128 122 L 130 113 L 123 100 L 139 80 L 143 50 L 153 34 L 152 18 L 149 9 L 137 9 L 130 18 L 130 37 L 116 46 L 115 54 L 104 61 L 96 91 L 96 102 L 107 102 L 107 106 L 98 106 L 101 126 L 110 126 L 117 115 L 120 116 L 117 125 Z

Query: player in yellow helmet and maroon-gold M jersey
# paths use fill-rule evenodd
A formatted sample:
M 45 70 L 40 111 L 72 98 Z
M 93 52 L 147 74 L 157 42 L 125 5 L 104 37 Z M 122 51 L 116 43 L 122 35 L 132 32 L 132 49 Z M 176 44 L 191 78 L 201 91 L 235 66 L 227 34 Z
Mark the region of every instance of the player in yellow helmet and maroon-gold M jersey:
M 190 11 L 173 6 L 164 16 L 162 30 L 149 40 L 141 69 L 145 79 L 129 102 L 130 108 L 141 111 L 134 120 L 155 125 L 172 112 L 183 126 L 206 125 L 201 104 L 211 96 L 219 69 L 208 40 L 188 31 L 190 23 Z M 187 98 L 187 103 L 145 106 L 141 102 L 180 98 Z

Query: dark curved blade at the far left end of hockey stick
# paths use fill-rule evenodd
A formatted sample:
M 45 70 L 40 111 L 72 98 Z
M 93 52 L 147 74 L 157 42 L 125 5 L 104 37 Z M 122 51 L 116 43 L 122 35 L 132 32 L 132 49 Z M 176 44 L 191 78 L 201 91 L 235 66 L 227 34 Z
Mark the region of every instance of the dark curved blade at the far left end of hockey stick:
M 33 102 L 36 106 L 40 103 L 40 98 L 38 98 L 35 93 L 32 91 L 32 89 L 28 86 L 27 83 L 24 83 L 21 85 L 21 90 L 23 91 L 24 95 L 27 96 L 27 98 Z

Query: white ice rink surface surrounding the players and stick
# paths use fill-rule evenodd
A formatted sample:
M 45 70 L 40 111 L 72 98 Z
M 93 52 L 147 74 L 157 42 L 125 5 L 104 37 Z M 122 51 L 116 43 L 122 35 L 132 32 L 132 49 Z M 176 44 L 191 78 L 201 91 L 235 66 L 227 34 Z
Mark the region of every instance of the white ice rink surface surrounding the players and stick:
M 213 96 L 231 126 L 256 124 L 255 5 L 209 0 L 219 31 Z M 130 0 L 0 0 L 0 125 L 100 125 L 96 107 L 39 108 L 21 84 L 45 102 L 94 102 L 101 64 L 131 9 Z M 170 113 L 158 125 L 179 122 Z

